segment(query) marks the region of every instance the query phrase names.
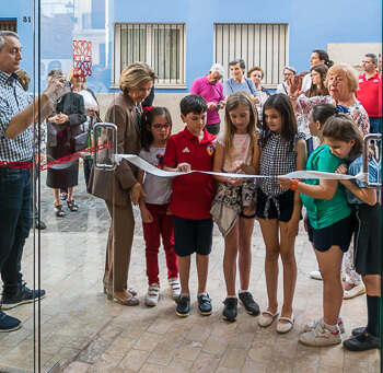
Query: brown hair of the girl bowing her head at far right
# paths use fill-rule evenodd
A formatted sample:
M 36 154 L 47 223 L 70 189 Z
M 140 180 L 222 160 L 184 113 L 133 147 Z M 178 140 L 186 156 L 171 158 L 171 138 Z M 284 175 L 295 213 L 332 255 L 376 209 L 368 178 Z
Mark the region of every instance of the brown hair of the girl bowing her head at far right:
M 352 153 L 359 156 L 363 149 L 363 136 L 355 120 L 347 114 L 336 114 L 323 126 L 322 135 L 335 141 L 350 142 L 355 140 Z

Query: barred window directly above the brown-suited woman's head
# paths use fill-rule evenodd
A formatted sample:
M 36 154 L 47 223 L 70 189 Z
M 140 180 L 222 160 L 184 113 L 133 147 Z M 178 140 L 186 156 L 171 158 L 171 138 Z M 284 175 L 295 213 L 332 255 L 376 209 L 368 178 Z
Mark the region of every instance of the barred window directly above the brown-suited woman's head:
M 156 88 L 185 88 L 185 24 L 131 24 L 115 26 L 115 85 L 131 62 L 144 61 L 156 74 Z

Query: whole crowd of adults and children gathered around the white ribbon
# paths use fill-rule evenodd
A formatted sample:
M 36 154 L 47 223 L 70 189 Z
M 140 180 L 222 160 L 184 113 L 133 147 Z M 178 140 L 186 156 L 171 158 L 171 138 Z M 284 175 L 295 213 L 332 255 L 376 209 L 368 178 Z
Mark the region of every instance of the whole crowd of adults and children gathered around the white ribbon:
M 91 121 L 98 105 L 84 79 L 71 72 L 72 84 L 68 89 L 62 71 L 49 72 L 50 81 L 40 96 L 42 112 L 35 113 L 33 98 L 16 83 L 20 50 L 16 34 L 0 32 L 0 91 L 2 97 L 8 97 L 0 100 L 1 159 L 32 160 L 33 115 L 38 115 L 40 121 L 47 118 L 48 160 L 67 155 L 78 150 L 77 145 L 85 148 L 89 125 L 83 130 L 79 128 Z M 344 292 L 352 298 L 363 293 L 365 287 L 368 324 L 352 330 L 353 336 L 344 346 L 351 351 L 380 347 L 380 193 L 357 179 L 280 176 L 301 170 L 355 176 L 362 170 L 363 136 L 380 131 L 382 126 L 378 57 L 365 55 L 364 72 L 359 78 L 352 67 L 334 65 L 324 50 L 314 50 L 310 62 L 310 74 L 304 77 L 297 74 L 293 67 L 286 67 L 285 82 L 276 94 L 260 85 L 260 67 L 246 73 L 245 62 L 235 59 L 229 63 L 232 78 L 221 84 L 224 68 L 214 63 L 206 75 L 195 80 L 190 94 L 182 98 L 181 120 L 185 129 L 174 135 L 169 109 L 143 104 L 153 94 L 158 78 L 153 69 L 146 62 L 134 62 L 123 70 L 120 92 L 105 116 L 105 121 L 117 126 L 117 152 L 136 154 L 158 168 L 183 174 L 159 177 L 127 160 L 121 160 L 114 172 L 94 168 L 92 164 L 84 170 L 89 191 L 104 199 L 111 213 L 103 280 L 109 300 L 128 306 L 139 304 L 137 292 L 128 285 L 135 205 L 141 211 L 146 241 L 146 305 L 159 303 L 158 255 L 162 240 L 176 315 L 187 317 L 192 312 L 193 254 L 198 275 L 198 311 L 205 316 L 212 313 L 208 271 L 216 223 L 224 237 L 223 319 L 235 322 L 241 303 L 248 314 L 259 315 L 259 326 L 269 327 L 278 319 L 277 333 L 289 333 L 294 325 L 294 246 L 303 219 L 318 263 L 315 276 L 323 280 L 323 316 L 304 326 L 300 341 L 309 346 L 340 343 L 347 323 L 340 315 Z M 220 109 L 224 109 L 222 128 Z M 81 143 L 83 138 L 85 142 Z M 100 143 L 109 140 L 111 132 L 101 131 Z M 102 150 L 100 161 L 106 163 L 111 155 L 111 149 Z M 380 183 L 375 155 L 374 151 L 370 153 L 369 175 L 370 182 Z M 189 173 L 194 170 L 217 174 Z M 47 185 L 54 188 L 58 218 L 65 214 L 59 202 L 60 188 L 67 188 L 62 194 L 67 194 L 68 208 L 73 212 L 79 208 L 72 193 L 78 172 L 78 163 L 73 163 L 65 170 L 51 170 L 47 177 Z M 30 206 L 26 208 L 31 200 L 28 171 L 2 167 L 0 173 L 5 196 L 0 206 L 9 211 L 0 215 L 0 226 L 13 232 L 0 237 L 2 310 L 7 310 L 43 298 L 45 291 L 26 288 L 20 271 L 31 226 Z M 255 219 L 266 247 L 268 303 L 263 311 L 254 300 L 249 280 Z M 281 307 L 277 298 L 279 258 L 283 267 Z M 347 277 L 344 284 L 343 261 Z M 19 319 L 0 311 L 1 331 L 20 326 Z

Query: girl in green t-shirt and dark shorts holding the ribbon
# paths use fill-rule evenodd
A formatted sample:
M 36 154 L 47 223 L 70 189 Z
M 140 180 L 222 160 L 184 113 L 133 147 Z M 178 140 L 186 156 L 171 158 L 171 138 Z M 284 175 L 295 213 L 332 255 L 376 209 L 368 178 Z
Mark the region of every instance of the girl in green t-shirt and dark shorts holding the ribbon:
M 310 117 L 310 130 L 321 139 L 321 145 L 310 155 L 307 171 L 334 173 L 344 163 L 335 156 L 323 138 L 324 127 L 334 118 L 336 107 L 330 104 L 314 106 Z M 328 118 L 326 120 L 326 118 Z M 322 126 L 324 124 L 324 126 Z M 341 342 L 339 313 L 344 298 L 340 279 L 341 260 L 348 250 L 352 235 L 351 209 L 345 188 L 336 179 L 279 178 L 283 188 L 294 188 L 307 211 L 306 228 L 323 278 L 323 314 L 304 327 L 300 340 L 309 346 L 326 346 Z

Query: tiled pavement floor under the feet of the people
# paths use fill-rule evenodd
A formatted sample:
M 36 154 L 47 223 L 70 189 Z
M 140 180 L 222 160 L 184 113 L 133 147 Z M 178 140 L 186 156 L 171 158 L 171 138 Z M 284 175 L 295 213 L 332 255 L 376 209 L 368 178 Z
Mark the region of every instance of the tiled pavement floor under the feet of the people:
M 44 180 L 43 180 L 44 184 Z M 127 307 L 106 300 L 102 291 L 108 214 L 103 201 L 89 197 L 83 188 L 76 194 L 78 213 L 55 218 L 50 191 L 43 187 L 42 214 L 47 230 L 40 235 L 42 284 L 47 296 L 42 301 L 42 372 L 59 361 L 63 372 L 379 372 L 379 352 L 351 353 L 335 346 L 311 348 L 298 342 L 305 322 L 321 316 L 322 282 L 311 280 L 315 258 L 301 231 L 295 256 L 298 281 L 294 298 L 295 324 L 287 335 L 278 335 L 275 324 L 260 328 L 257 317 L 242 307 L 236 323 L 221 317 L 225 287 L 222 275 L 223 240 L 214 233 L 210 256 L 208 290 L 213 314 L 204 317 L 196 307 L 181 319 L 166 283 L 163 252 L 161 298 L 156 307 L 143 304 L 147 289 L 144 243 L 137 219 L 129 285 L 139 292 L 141 304 Z M 135 211 L 138 214 L 138 211 Z M 38 237 L 35 237 L 36 242 Z M 36 247 L 37 250 L 37 247 Z M 260 307 L 266 306 L 264 275 L 265 248 L 258 224 L 253 237 L 251 291 Z M 23 272 L 33 283 L 33 236 L 27 241 Z M 280 272 L 281 278 L 282 271 Z M 195 265 L 190 275 L 196 291 Z M 281 281 L 280 281 L 281 285 Z M 279 292 L 279 300 L 282 293 Z M 364 295 L 343 305 L 346 337 L 353 327 L 365 324 Z M 23 305 L 9 314 L 24 320 L 20 330 L 0 335 L 0 365 L 33 371 L 33 306 Z M 37 317 L 37 315 L 36 315 Z M 0 370 L 1 371 L 1 370 Z

